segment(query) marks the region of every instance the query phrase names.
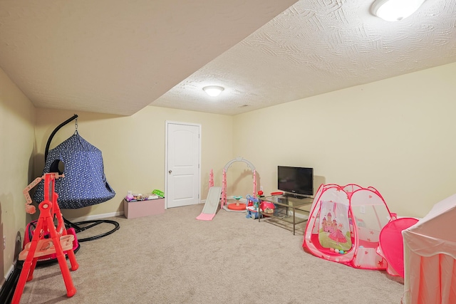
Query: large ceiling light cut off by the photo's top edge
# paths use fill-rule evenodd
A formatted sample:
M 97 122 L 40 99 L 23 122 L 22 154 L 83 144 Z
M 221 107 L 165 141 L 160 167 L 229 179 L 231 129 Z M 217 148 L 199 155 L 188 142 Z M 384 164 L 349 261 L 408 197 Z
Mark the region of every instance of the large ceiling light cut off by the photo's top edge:
M 417 11 L 425 0 L 375 0 L 371 12 L 386 21 L 400 21 Z

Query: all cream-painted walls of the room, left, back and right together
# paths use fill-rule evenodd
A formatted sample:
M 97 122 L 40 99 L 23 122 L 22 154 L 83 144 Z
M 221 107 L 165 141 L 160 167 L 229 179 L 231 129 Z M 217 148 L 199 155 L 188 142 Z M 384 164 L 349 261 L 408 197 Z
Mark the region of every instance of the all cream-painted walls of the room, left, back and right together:
M 129 117 L 78 112 L 78 131 L 103 152 L 105 174 L 117 194 L 103 204 L 65 210 L 65 216 L 121 212 L 128 190 L 164 189 L 166 120 L 202 125 L 202 199 L 210 169 L 221 185 L 224 165 L 244 157 L 257 168 L 258 189 L 263 186 L 266 193 L 276 190 L 277 165 L 309 166 L 317 184 L 373 186 L 392 211 L 424 216 L 454 193 L 454 75 L 456 63 L 234 117 L 157 107 Z M 16 234 L 24 233 L 22 190 L 42 173 L 49 135 L 74 112 L 35 109 L 2 70 L 0 80 L 0 232 L 6 235 L 6 273 Z M 74 131 L 74 122 L 63 127 L 51 148 Z M 227 174 L 228 195 L 252 193 L 252 172 L 245 164 L 233 164 Z

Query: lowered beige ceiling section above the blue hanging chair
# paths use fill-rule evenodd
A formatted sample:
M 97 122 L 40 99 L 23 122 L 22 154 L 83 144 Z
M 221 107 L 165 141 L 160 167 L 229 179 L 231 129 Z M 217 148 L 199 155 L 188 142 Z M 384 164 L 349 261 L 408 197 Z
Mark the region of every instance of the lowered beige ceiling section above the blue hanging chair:
M 0 0 L 0 68 L 38 108 L 132 115 L 296 0 Z

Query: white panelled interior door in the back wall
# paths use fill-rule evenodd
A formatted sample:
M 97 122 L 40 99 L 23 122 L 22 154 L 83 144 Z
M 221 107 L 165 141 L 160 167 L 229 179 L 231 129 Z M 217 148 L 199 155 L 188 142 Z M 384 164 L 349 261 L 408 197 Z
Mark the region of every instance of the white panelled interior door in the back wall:
M 167 208 L 199 204 L 200 125 L 166 122 L 167 161 L 165 198 Z

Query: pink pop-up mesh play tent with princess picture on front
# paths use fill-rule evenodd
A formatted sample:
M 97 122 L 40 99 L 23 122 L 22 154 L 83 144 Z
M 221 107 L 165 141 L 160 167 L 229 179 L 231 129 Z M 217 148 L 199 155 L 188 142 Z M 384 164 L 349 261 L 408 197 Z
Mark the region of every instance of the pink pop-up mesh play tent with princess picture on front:
M 380 231 L 391 214 L 373 187 L 322 184 L 311 206 L 303 248 L 329 261 L 355 268 L 385 270 L 378 255 Z

